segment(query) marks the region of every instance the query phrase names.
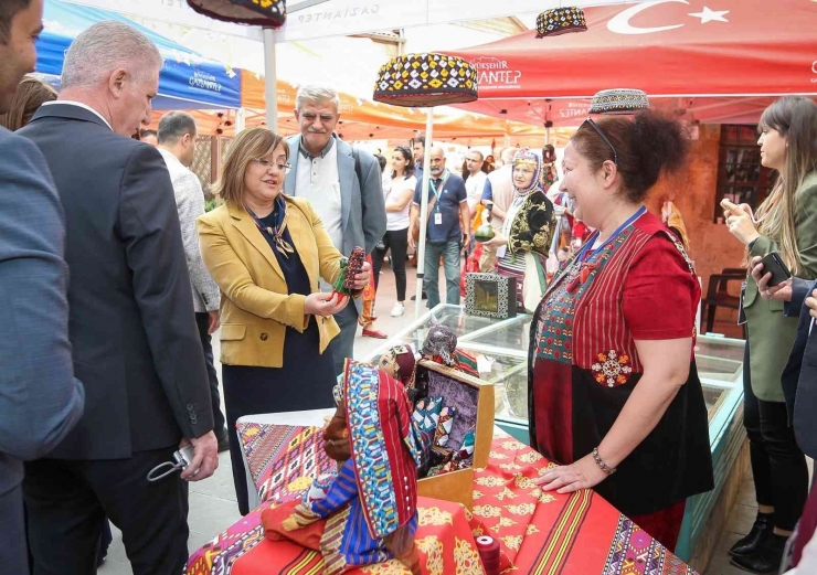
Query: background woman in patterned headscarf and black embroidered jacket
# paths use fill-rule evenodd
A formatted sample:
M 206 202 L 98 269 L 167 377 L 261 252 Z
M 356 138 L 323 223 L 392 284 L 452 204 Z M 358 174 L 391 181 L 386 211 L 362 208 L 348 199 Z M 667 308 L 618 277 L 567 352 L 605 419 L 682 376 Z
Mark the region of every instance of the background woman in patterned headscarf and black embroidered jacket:
M 519 311 L 535 310 L 545 287 L 544 262 L 553 248 L 556 217 L 542 189 L 542 160 L 529 148 L 513 156 L 513 201 L 502 231 L 485 245 L 497 248 L 497 271 L 517 278 Z

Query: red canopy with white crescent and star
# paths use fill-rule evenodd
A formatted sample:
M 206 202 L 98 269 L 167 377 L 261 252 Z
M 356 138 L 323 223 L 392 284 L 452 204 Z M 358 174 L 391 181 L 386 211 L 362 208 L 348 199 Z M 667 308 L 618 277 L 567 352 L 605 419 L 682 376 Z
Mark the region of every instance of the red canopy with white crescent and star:
M 647 0 L 584 12 L 586 32 L 531 30 L 453 51 L 479 83 L 479 99 L 457 107 L 570 126 L 587 117 L 593 94 L 626 87 L 658 107 L 694 99 L 701 121 L 739 123 L 774 96 L 817 96 L 814 0 Z

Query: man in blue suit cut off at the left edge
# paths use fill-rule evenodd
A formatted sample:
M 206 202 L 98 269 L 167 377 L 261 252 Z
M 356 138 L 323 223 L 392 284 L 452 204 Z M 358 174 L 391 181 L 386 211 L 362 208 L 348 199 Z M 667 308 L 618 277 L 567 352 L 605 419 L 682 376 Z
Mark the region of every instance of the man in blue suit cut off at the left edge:
M 0 114 L 34 67 L 42 0 L 0 3 Z M 29 572 L 23 460 L 43 457 L 79 420 L 85 393 L 68 342 L 68 268 L 60 199 L 45 159 L 0 128 L 0 571 Z

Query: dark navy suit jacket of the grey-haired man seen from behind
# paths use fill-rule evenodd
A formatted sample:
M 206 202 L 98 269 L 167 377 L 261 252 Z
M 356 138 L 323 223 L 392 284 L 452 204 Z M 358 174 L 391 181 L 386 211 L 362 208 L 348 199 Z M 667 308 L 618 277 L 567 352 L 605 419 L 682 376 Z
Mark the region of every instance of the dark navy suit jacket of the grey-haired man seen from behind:
M 87 401 L 51 454 L 116 459 L 213 428 L 179 215 L 165 160 L 78 106 L 19 132 L 45 156 L 65 210 L 74 372 Z

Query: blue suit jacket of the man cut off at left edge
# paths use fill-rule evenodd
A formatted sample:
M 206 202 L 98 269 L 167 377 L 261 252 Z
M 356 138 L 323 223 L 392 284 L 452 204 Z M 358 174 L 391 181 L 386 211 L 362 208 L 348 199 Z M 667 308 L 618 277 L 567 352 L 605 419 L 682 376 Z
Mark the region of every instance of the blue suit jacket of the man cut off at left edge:
M 71 362 L 65 223 L 54 182 L 36 146 L 4 128 L 0 158 L 2 498 L 22 481 L 22 460 L 45 456 L 79 420 L 85 392 Z

